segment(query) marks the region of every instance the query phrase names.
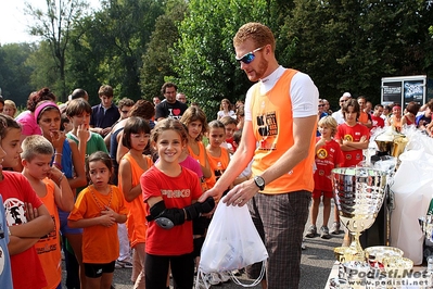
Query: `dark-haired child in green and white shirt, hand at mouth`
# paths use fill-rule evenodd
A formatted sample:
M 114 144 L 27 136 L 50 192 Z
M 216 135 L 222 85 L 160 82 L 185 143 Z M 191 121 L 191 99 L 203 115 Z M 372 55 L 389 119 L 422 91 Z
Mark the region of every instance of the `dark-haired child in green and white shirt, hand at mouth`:
M 66 137 L 77 143 L 84 163 L 86 158 L 93 152 L 109 152 L 104 139 L 100 135 L 89 131 L 91 112 L 92 108 L 84 99 L 73 99 L 65 111 L 73 125 L 72 131 L 67 133 Z

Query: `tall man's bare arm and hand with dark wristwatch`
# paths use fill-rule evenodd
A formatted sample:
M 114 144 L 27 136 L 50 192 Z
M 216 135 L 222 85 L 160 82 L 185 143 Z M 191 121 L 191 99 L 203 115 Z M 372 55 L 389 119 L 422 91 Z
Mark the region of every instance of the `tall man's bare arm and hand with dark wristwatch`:
M 270 184 L 280 176 L 288 174 L 301 161 L 308 156 L 311 136 L 316 127 L 317 116 L 311 115 L 307 117 L 293 118 L 293 146 L 270 167 L 268 167 L 262 177 L 265 184 Z M 232 162 L 235 164 L 235 162 Z M 239 175 L 239 174 L 238 174 Z M 246 180 L 234 187 L 226 198 L 226 203 L 244 205 L 257 192 L 258 187 L 254 179 Z

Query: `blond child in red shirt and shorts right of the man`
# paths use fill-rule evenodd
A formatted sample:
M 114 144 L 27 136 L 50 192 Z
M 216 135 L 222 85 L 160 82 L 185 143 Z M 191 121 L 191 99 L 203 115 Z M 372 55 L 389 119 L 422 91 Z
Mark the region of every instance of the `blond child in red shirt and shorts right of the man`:
M 316 221 L 319 213 L 320 197 L 323 196 L 323 224 L 320 227 L 320 238 L 329 239 L 328 221 L 331 213 L 332 181 L 331 171 L 343 163 L 343 153 L 339 142 L 333 139 L 338 123 L 332 116 L 324 116 L 319 121 L 320 137 L 316 139 L 316 167 L 315 190 L 313 191 L 313 203 L 310 210 L 311 225 L 305 237 L 316 237 Z M 339 211 L 334 210 L 335 222 L 340 223 Z

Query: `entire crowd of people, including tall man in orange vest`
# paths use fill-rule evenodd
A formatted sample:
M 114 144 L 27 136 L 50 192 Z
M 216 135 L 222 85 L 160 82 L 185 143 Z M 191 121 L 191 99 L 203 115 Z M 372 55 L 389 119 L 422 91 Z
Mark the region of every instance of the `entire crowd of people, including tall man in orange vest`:
M 165 289 L 170 276 L 192 288 L 215 206 L 247 205 L 269 253 L 262 288 L 297 288 L 304 228 L 311 214 L 305 237 L 318 235 L 321 197 L 320 237 L 340 233 L 338 212 L 328 229 L 331 169 L 361 162 L 374 127 L 432 135 L 433 101 L 402 114 L 345 92 L 332 112 L 308 75 L 279 65 L 263 24 L 243 25 L 233 47 L 256 84 L 245 102 L 224 99 L 215 120 L 173 83 L 152 102 L 116 105 L 109 85 L 94 106 L 80 88 L 60 105 L 49 88 L 35 91 L 18 115 L 0 101 L 2 287 L 61 288 L 63 252 L 67 288 L 111 288 L 123 267 L 133 288 Z

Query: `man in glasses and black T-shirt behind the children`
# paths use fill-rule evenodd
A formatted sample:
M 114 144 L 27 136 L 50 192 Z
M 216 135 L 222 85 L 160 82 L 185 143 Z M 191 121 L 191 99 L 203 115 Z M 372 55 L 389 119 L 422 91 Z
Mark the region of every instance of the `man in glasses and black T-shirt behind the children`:
M 173 83 L 165 83 L 161 92 L 164 95 L 165 101 L 156 105 L 155 120 L 162 121 L 167 117 L 180 120 L 188 105 L 176 99 L 177 86 Z

